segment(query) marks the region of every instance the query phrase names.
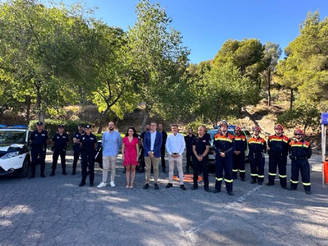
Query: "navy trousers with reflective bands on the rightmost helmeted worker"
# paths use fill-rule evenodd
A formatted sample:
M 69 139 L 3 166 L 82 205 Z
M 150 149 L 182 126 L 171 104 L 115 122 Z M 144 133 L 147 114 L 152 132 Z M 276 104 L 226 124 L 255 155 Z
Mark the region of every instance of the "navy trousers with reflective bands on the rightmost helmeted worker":
M 291 187 L 295 189 L 298 185 L 299 172 L 301 172 L 304 190 L 311 191 L 310 165 L 308 160 L 292 160 Z

